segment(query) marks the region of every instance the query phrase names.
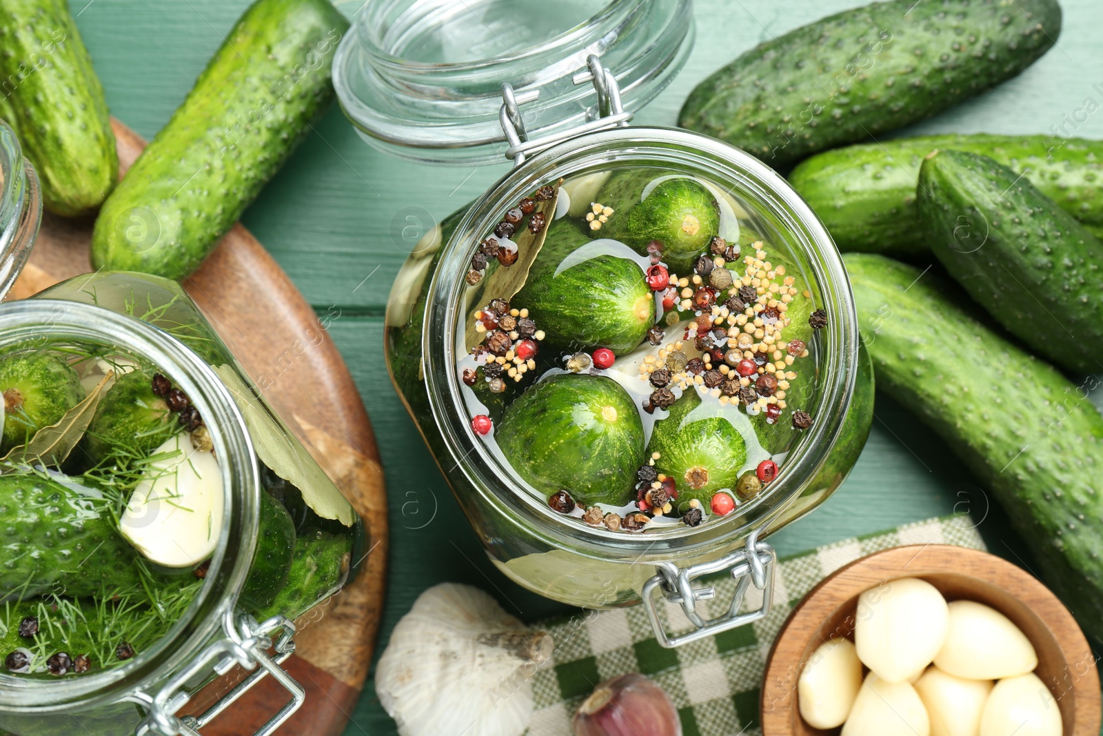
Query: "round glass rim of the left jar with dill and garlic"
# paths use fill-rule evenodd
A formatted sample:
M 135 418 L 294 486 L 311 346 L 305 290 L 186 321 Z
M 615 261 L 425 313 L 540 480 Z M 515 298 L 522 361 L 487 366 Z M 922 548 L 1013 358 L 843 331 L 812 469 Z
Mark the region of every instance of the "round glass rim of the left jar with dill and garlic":
M 0 712 L 67 712 L 120 700 L 141 701 L 167 673 L 184 666 L 233 621 L 236 591 L 248 573 L 259 527 L 260 474 L 245 419 L 215 372 L 191 349 L 141 320 L 103 307 L 54 299 L 0 306 L 0 348 L 43 339 L 122 345 L 167 373 L 204 417 L 214 452 L 223 458 L 226 514 L 204 585 L 153 649 L 95 674 L 38 680 L 0 674 Z

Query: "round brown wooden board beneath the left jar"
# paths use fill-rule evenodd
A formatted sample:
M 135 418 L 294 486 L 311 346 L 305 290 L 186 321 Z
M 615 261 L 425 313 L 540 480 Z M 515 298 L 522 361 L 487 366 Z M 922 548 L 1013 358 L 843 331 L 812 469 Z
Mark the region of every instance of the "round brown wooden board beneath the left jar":
M 111 127 L 120 173 L 126 173 L 146 141 L 118 120 Z M 43 215 L 34 250 L 8 298 L 22 299 L 90 271 L 93 223 Z M 356 508 L 370 533 L 371 551 L 360 576 L 299 621 L 296 653 L 283 665 L 306 687 L 307 702 L 277 733 L 340 734 L 367 676 L 383 611 L 387 498 L 372 425 L 324 324 L 240 223 L 184 280 L 184 288 L 249 376 L 267 386 L 265 397 Z M 201 693 L 185 711 L 202 712 L 207 695 Z M 287 700 L 287 692 L 268 678 L 204 728 L 204 736 L 251 734 Z

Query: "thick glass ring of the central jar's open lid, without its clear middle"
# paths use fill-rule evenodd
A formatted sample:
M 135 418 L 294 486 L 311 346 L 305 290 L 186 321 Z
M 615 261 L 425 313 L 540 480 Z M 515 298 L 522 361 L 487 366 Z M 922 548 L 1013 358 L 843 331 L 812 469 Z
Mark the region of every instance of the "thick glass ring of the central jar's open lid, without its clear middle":
M 507 55 L 445 63 L 406 58 L 396 49 L 404 33 L 390 39 L 388 30 L 424 22 L 443 33 L 454 15 L 433 11 L 447 4 L 370 0 L 334 55 L 342 109 L 362 138 L 392 156 L 500 163 L 507 148 L 500 122 L 503 84 L 518 96 L 538 92 L 522 108 L 533 137 L 561 132 L 598 117 L 593 88 L 572 83 L 587 68 L 587 56 L 601 57 L 625 108 L 634 110 L 678 73 L 693 40 L 692 0 L 608 0 L 585 22 Z M 400 14 L 392 21 L 394 13 Z

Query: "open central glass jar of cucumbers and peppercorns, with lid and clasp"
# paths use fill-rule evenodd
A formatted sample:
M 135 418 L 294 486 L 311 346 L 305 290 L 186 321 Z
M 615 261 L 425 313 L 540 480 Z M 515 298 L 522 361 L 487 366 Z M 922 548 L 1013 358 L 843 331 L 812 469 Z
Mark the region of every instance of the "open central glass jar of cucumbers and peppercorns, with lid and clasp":
M 765 537 L 846 478 L 872 374 L 842 259 L 785 181 L 629 126 L 684 61 L 688 3 L 611 2 L 499 58 L 447 56 L 462 29 L 435 3 L 373 4 L 334 60 L 363 136 L 515 163 L 415 246 L 386 317 L 395 386 L 491 559 L 567 604 L 642 601 L 666 647 L 765 616 Z M 725 570 L 736 600 L 708 617 L 695 580 Z

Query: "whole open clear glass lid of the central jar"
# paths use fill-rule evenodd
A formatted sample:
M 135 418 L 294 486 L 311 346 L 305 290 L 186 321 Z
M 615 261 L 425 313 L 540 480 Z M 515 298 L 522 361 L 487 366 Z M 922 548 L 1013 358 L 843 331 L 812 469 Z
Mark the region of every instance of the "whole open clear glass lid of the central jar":
M 373 0 L 338 50 L 333 84 L 345 115 L 381 150 L 496 163 L 510 147 L 504 84 L 533 137 L 563 134 L 601 115 L 598 92 L 576 78 L 591 54 L 634 110 L 671 82 L 692 45 L 690 0 Z

